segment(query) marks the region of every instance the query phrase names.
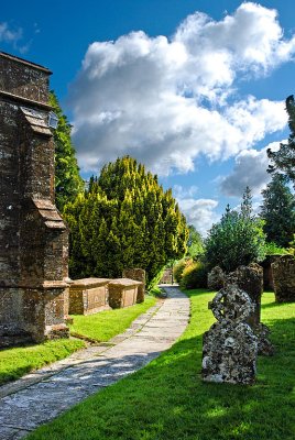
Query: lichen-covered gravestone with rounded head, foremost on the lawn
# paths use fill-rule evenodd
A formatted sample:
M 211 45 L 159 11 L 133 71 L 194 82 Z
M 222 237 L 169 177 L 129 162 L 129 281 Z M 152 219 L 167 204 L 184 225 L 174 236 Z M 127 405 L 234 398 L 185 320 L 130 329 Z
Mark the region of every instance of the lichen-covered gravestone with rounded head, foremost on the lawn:
M 258 338 L 245 323 L 254 306 L 237 286 L 218 292 L 210 306 L 217 319 L 203 340 L 201 376 L 205 382 L 253 384 Z

